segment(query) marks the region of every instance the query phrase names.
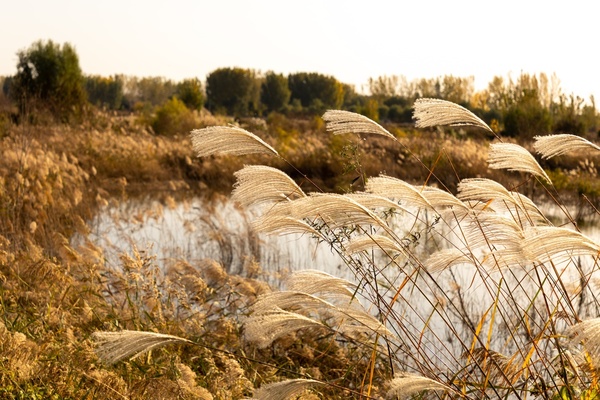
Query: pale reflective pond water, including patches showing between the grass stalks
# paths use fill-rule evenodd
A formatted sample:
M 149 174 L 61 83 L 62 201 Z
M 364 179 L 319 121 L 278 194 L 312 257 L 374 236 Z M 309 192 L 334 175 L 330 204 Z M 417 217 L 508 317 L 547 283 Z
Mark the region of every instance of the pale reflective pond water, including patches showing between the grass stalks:
M 552 216 L 555 225 L 567 225 L 568 220 L 560 209 L 546 205 L 543 211 L 545 215 Z M 90 233 L 87 239 L 104 249 L 106 262 L 113 268 L 119 268 L 120 254 L 131 254 L 137 248 L 154 254 L 159 266 L 176 259 L 184 259 L 192 265 L 196 260 L 214 259 L 230 273 L 258 277 L 273 287 L 280 287 L 281 279 L 290 272 L 302 269 L 318 269 L 356 281 L 352 270 L 328 244 L 318 244 L 309 235 L 256 235 L 251 228 L 251 221 L 256 215 L 256 212 L 241 210 L 225 197 L 210 201 L 202 198 L 163 202 L 131 200 L 109 205 L 98 213 L 89 222 Z M 427 217 L 424 219 L 429 220 Z M 430 216 L 430 219 L 433 221 L 434 216 Z M 429 229 L 427 226 L 416 226 L 414 221 L 414 216 L 394 221 L 395 229 L 404 231 L 400 233 L 400 237 L 410 238 L 407 232 L 419 229 L 425 232 Z M 593 221 L 593 218 L 588 218 L 588 221 Z M 435 226 L 438 238 L 452 235 L 451 232 L 444 232 L 444 229 L 452 227 L 444 228 L 443 225 L 440 223 Z M 591 238 L 600 238 L 597 223 L 586 224 L 583 231 Z M 433 239 L 431 242 L 428 240 L 427 235 L 414 237 L 414 249 L 421 251 L 423 258 L 439 245 Z M 75 244 L 81 243 L 82 238 L 75 238 L 73 241 Z M 257 269 L 256 265 L 260 268 Z M 389 269 L 389 277 L 378 277 L 389 283 L 386 288 L 379 288 L 383 291 L 383 297 L 388 299 L 399 293 L 396 288 L 401 287 L 402 279 L 406 276 L 395 267 L 397 265 Z M 529 272 L 521 272 L 502 276 L 502 280 L 508 277 L 518 281 L 514 291 L 507 290 L 506 284 L 501 283 L 494 286 L 498 292 L 494 288 L 490 290 L 486 284 L 486 279 L 493 280 L 495 277 L 479 276 L 474 268 L 444 271 L 430 280 L 419 277 L 417 279 L 424 279 L 419 281 L 422 284 L 420 287 L 426 287 L 430 291 L 405 290 L 410 293 L 402 298 L 403 301 L 394 304 L 396 322 L 402 321 L 401 324 L 393 325 L 398 329 L 395 333 L 419 338 L 418 341 L 423 341 L 424 346 L 429 348 L 423 354 L 436 359 L 436 363 L 454 363 L 460 359 L 462 347 L 456 342 L 448 344 L 444 338 L 454 337 L 454 326 L 458 326 L 461 319 L 445 312 L 438 314 L 436 308 L 446 307 L 443 305 L 456 301 L 458 290 L 462 290 L 460 296 L 464 296 L 468 302 L 468 309 L 463 311 L 474 316 L 474 321 L 486 315 L 490 305 L 494 304 L 497 293 L 506 300 L 498 303 L 503 304 L 502 307 L 505 306 L 504 303 L 513 302 L 511 307 L 514 310 L 504 310 L 506 315 L 512 315 L 513 312 L 520 314 L 519 310 L 528 309 L 533 301 L 532 293 L 535 293 L 539 283 L 532 276 L 527 276 Z M 523 284 L 523 278 L 529 279 L 531 286 Z M 419 288 L 419 285 L 415 284 L 414 287 Z M 500 290 L 506 291 L 499 294 Z M 548 294 L 550 299 L 554 296 L 556 295 L 553 293 Z M 364 304 L 372 305 L 377 301 L 372 298 Z M 560 298 L 556 301 L 560 302 Z M 542 314 L 538 318 L 543 319 Z M 506 344 L 503 336 L 496 342 L 492 345 L 499 349 Z

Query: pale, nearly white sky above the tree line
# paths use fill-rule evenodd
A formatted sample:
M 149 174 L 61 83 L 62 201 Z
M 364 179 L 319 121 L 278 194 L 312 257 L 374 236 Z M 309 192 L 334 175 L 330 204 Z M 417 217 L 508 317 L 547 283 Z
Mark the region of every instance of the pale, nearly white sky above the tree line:
M 353 84 L 555 73 L 600 97 L 595 1 L 3 0 L 0 76 L 39 39 L 69 42 L 86 74 L 206 75 L 219 67 L 319 72 Z

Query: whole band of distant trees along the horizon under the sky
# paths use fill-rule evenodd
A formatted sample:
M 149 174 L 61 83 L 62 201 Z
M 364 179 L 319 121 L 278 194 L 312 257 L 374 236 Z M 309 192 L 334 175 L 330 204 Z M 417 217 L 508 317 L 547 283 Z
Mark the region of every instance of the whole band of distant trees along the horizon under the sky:
M 369 80 L 369 94 L 361 94 L 353 86 L 317 72 L 284 75 L 219 68 L 205 81 L 190 78 L 180 82 L 162 77 L 85 75 L 75 49 L 52 41 L 35 42 L 17 56 L 17 72 L 2 79 L 4 103 L 8 99 L 19 113 L 41 109 L 60 119 L 81 115 L 93 105 L 159 116 L 206 108 L 237 118 L 272 112 L 293 117 L 320 115 L 327 109 L 345 109 L 376 121 L 410 123 L 415 99 L 434 97 L 462 104 L 496 131 L 525 140 L 551 132 L 594 139 L 600 128 L 594 98 L 586 102 L 565 94 L 558 78 L 544 73 L 521 74 L 515 79 L 495 77 L 482 91 L 474 90 L 473 77 L 446 75 L 408 81 L 400 75 L 381 76 Z

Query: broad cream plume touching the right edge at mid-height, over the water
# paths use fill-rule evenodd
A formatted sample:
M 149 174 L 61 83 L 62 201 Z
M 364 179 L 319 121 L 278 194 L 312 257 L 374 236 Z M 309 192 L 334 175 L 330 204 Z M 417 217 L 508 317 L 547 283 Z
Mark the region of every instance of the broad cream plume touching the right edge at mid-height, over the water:
M 582 233 L 555 226 L 540 226 L 525 231 L 523 251 L 528 260 L 552 261 L 572 256 L 597 257 L 600 246 Z

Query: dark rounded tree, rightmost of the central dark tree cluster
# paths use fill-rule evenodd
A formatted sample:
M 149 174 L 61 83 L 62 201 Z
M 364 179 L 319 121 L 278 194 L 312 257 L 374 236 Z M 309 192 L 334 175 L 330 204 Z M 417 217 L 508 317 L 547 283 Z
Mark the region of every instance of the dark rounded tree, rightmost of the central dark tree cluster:
M 338 109 L 344 101 L 344 85 L 334 77 L 316 72 L 299 72 L 288 76 L 291 100 L 302 107 L 321 113 L 325 109 Z

